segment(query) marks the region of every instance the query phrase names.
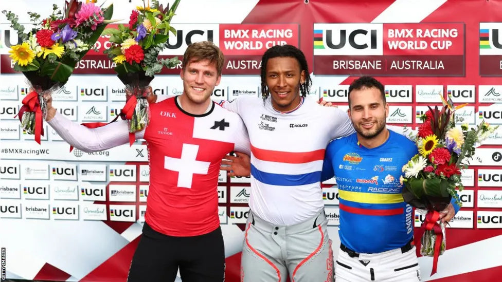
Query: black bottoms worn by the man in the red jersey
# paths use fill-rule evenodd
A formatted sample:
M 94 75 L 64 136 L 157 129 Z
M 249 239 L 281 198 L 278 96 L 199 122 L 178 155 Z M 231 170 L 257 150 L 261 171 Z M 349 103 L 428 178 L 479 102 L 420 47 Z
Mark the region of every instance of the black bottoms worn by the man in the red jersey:
M 178 267 L 183 282 L 223 281 L 225 250 L 221 228 L 199 236 L 174 237 L 153 230 L 145 222 L 128 282 L 174 281 Z

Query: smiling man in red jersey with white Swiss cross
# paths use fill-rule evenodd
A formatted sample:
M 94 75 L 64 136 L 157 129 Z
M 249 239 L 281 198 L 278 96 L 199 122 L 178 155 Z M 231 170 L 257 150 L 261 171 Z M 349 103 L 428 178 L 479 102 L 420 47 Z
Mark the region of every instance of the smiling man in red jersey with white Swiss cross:
M 225 155 L 249 154 L 249 137 L 237 114 L 209 99 L 223 63 L 211 42 L 188 46 L 183 94 L 150 104 L 150 123 L 136 133 L 147 141 L 150 190 L 128 281 L 174 281 L 178 267 L 184 281 L 224 279 L 218 175 Z M 50 102 L 46 120 L 76 148 L 94 152 L 128 143 L 126 121 L 88 129 L 65 119 Z

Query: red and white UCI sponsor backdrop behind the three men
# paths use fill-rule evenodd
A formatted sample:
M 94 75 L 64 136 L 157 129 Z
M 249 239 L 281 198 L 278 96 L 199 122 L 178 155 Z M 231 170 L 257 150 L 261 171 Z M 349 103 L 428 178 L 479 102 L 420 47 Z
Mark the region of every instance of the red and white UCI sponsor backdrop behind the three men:
M 128 23 L 139 0 L 114 3 L 113 18 Z M 172 2 L 172 1 L 170 1 Z M 26 11 L 42 16 L 51 4 L 2 2 L 27 24 Z M 107 5 L 107 4 L 106 4 Z M 364 9 L 353 1 L 183 0 L 173 26 L 176 36 L 162 57 L 181 58 L 191 42 L 213 41 L 226 55 L 221 84 L 212 99 L 260 95 L 261 55 L 270 46 L 292 44 L 306 54 L 313 85 L 310 99 L 347 108 L 347 89 L 362 74 L 385 87 L 388 123 L 415 127 L 438 95 L 469 103 L 458 123 L 486 120 L 502 124 L 502 1 L 373 1 Z M 141 234 L 148 199 L 146 145 L 138 140 L 96 153 L 69 146 L 47 125 L 42 144 L 20 129 L 14 115 L 28 93 L 15 72 L 9 47 L 19 43 L 0 16 L 0 247 L 7 278 L 66 281 L 126 281 Z M 113 26 L 113 25 L 112 25 Z M 116 25 L 115 25 L 116 26 Z M 341 34 L 349 34 L 346 38 Z M 351 36 L 353 35 L 353 36 Z M 102 54 L 108 41 L 79 62 L 68 83 L 53 94 L 61 114 L 76 122 L 110 122 L 125 101 L 114 64 Z M 181 67 L 164 70 L 151 85 L 157 95 L 180 95 Z M 322 121 L 329 122 L 329 121 Z M 423 280 L 495 281 L 502 272 L 502 127 L 478 148 L 464 171 L 464 207 L 447 229 L 447 251 L 438 273 L 432 259 L 420 257 Z M 219 214 L 225 240 L 226 281 L 239 281 L 243 223 L 249 180 L 219 177 Z M 338 253 L 338 190 L 322 184 L 329 236 Z M 193 215 L 197 216 L 197 215 Z M 415 215 L 418 227 L 422 217 Z M 382 233 L 375 236 L 385 236 Z M 5 259 L 5 260 L 4 260 Z M 5 262 L 5 266 L 4 263 Z M 5 271 L 5 272 L 4 272 Z M 177 278 L 177 280 L 181 280 Z

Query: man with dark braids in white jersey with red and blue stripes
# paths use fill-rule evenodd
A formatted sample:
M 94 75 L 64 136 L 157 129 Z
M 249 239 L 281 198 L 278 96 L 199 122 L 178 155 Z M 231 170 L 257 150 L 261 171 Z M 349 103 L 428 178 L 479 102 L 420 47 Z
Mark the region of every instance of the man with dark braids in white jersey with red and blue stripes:
M 251 143 L 251 192 L 241 281 L 333 281 L 333 253 L 320 188 L 330 140 L 354 132 L 347 114 L 305 99 L 312 83 L 294 46 L 262 58 L 263 100 L 223 103 L 237 112 Z

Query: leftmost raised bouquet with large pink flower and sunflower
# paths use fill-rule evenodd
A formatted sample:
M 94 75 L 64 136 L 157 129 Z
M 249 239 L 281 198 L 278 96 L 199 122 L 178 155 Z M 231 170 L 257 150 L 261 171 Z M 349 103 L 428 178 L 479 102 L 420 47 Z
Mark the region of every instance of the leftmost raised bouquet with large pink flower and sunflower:
M 111 23 L 113 5 L 102 8 L 95 2 L 66 1 L 63 12 L 52 5 L 52 13 L 42 20 L 39 14 L 28 12 L 35 25 L 28 33 L 14 13 L 2 11 L 23 40 L 9 51 L 15 62 L 14 70 L 23 72 L 32 89 L 23 99 L 19 119 L 23 129 L 35 134 L 39 144 L 40 135 L 44 135 L 44 99 L 68 81 L 77 62 L 93 48 L 105 26 Z

